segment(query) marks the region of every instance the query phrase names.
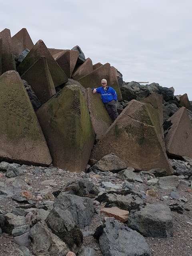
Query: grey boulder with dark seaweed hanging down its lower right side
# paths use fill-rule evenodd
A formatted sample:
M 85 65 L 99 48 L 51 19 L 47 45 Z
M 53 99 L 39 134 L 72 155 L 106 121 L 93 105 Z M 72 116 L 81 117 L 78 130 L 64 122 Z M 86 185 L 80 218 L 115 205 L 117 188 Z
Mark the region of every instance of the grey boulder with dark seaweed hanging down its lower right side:
M 75 226 L 73 216 L 68 210 L 55 207 L 46 218 L 46 224 L 52 232 L 63 240 L 75 253 L 82 248 L 83 234 Z

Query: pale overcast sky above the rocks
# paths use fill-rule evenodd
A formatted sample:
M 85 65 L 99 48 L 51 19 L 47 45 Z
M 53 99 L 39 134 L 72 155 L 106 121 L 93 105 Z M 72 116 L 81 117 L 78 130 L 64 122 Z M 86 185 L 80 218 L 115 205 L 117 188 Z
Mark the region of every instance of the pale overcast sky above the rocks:
M 192 100 L 192 1 L 0 0 L 0 31 L 27 28 L 34 44 L 79 45 L 124 81 L 158 82 Z

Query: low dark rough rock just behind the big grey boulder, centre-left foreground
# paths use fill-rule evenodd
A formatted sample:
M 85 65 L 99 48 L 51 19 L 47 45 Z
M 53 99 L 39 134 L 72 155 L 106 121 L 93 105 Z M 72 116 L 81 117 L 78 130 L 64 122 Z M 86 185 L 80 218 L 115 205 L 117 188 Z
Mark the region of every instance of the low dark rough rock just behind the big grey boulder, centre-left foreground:
M 88 179 L 80 179 L 68 182 L 62 190 L 65 194 L 75 194 L 76 196 L 95 197 L 98 195 L 98 189 Z

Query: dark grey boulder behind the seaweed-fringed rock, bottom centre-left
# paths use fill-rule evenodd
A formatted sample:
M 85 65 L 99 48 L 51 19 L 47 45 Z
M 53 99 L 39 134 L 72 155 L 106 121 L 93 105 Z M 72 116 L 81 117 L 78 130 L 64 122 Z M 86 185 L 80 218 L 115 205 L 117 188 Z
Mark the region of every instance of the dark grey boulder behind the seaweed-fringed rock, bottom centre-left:
M 54 207 L 68 210 L 76 225 L 84 228 L 90 224 L 94 215 L 93 202 L 88 197 L 80 197 L 72 194 L 60 193 L 54 202 Z

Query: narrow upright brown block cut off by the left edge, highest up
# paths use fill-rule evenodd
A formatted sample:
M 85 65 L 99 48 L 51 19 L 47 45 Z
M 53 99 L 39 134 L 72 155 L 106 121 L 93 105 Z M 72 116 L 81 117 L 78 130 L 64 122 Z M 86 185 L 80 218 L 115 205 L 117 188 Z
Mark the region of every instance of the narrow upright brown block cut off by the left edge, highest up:
M 16 70 L 10 30 L 5 28 L 0 32 L 2 40 L 2 74 L 8 70 Z

